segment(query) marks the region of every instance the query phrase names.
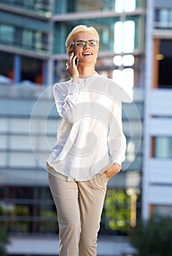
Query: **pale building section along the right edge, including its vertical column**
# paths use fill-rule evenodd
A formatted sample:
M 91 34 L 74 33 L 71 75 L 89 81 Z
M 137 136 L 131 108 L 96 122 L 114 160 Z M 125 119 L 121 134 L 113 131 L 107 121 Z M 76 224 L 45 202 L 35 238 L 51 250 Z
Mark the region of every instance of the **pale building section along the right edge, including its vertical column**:
M 142 213 L 171 214 L 171 1 L 147 1 Z M 162 45 L 165 45 L 164 47 Z M 167 79 L 166 79 L 167 78 Z

